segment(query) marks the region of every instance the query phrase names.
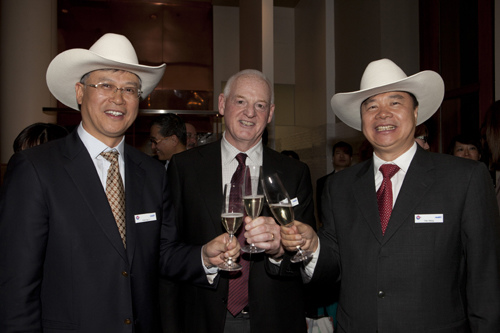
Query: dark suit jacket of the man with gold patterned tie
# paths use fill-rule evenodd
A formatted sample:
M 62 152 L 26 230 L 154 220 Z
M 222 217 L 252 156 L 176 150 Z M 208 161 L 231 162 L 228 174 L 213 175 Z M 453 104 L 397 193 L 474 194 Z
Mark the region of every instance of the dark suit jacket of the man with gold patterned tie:
M 128 145 L 124 159 L 126 251 L 76 131 L 12 157 L 0 199 L 0 332 L 160 332 L 166 173 Z M 134 221 L 145 213 L 156 220 Z

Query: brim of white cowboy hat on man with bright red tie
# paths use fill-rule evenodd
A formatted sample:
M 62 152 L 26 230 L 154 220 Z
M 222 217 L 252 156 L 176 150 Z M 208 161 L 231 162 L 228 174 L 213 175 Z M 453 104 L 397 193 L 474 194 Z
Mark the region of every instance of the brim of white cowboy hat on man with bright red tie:
M 444 82 L 436 72 L 423 71 L 379 87 L 335 94 L 331 106 L 340 120 L 361 131 L 361 103 L 369 97 L 390 91 L 415 95 L 419 104 L 417 125 L 420 125 L 439 109 L 444 97 Z

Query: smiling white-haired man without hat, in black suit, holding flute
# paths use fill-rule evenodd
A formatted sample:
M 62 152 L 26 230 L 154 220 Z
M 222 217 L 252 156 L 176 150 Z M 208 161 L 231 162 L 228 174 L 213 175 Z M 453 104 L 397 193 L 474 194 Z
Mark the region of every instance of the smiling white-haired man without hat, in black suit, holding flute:
M 168 175 L 172 193 L 178 193 L 173 201 L 181 241 L 205 244 L 221 233 L 223 184 L 230 182 L 241 153 L 246 154 L 246 165 L 262 165 L 264 174 L 278 173 L 290 196 L 298 199 L 297 220 L 314 224 L 309 168 L 262 145 L 262 133 L 274 113 L 273 100 L 272 85 L 261 72 L 233 75 L 219 96 L 219 113 L 226 126 L 222 140 L 172 157 Z M 207 267 L 210 282 L 206 286 L 178 286 L 180 298 L 172 307 L 181 306 L 182 332 L 305 331 L 298 266 L 292 267 L 289 253 L 284 253 L 279 226 L 270 212 L 264 209 L 261 215 L 254 221 L 247 217 L 243 230 L 248 243 L 266 250 L 241 258 L 240 262 L 249 260 L 249 272 L 233 276 Z M 179 258 L 178 265 L 183 264 Z M 233 313 L 228 310 L 233 295 L 229 280 L 240 278 L 247 280 L 248 297 Z

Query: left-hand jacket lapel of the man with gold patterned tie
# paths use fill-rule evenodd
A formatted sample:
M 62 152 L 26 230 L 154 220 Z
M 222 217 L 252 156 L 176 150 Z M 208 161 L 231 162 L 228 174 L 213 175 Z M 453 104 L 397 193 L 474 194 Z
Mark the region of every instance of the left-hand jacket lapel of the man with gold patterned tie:
M 126 260 L 125 248 L 106 193 L 97 175 L 95 165 L 76 130 L 66 138 L 63 154 L 67 157 L 64 167 L 80 191 L 82 200 L 94 215 L 95 222 L 99 224 L 116 251 Z M 85 223 L 87 222 L 91 223 L 92 221 L 85 221 Z

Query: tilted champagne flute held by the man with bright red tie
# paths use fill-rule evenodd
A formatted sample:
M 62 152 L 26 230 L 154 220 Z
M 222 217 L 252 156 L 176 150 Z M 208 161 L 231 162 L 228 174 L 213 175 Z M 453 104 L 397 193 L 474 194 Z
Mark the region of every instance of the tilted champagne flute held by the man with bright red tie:
M 262 186 L 269 208 L 274 218 L 284 227 L 292 227 L 295 219 L 292 201 L 281 183 L 278 174 L 263 177 Z M 312 252 L 304 251 L 297 245 L 297 253 L 290 260 L 293 263 L 304 261 L 312 257 Z

